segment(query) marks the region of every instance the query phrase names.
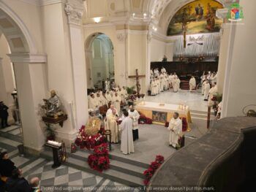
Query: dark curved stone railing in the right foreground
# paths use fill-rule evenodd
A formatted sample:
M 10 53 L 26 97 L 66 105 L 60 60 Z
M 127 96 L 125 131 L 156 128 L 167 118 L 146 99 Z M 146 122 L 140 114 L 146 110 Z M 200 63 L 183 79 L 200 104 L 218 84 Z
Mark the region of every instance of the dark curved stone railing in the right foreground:
M 256 179 L 256 118 L 218 120 L 154 174 L 148 191 L 246 191 Z

